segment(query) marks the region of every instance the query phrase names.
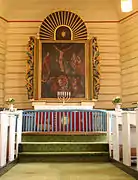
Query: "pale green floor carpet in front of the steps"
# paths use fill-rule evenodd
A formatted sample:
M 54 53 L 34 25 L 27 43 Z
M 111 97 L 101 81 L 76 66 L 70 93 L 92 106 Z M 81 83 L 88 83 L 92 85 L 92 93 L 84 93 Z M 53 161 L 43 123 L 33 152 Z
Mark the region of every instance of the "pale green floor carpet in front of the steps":
M 17 164 L 1 180 L 134 180 L 110 163 Z

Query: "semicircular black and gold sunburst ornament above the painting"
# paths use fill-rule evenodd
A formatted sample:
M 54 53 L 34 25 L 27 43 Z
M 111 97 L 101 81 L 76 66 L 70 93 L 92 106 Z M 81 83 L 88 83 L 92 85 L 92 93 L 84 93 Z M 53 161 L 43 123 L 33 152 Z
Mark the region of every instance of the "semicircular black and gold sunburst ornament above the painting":
M 83 20 L 75 13 L 57 11 L 47 16 L 40 26 L 39 38 L 41 40 L 54 39 L 58 27 L 66 26 L 72 32 L 72 40 L 87 40 L 87 28 Z M 65 32 L 62 32 L 62 37 Z

